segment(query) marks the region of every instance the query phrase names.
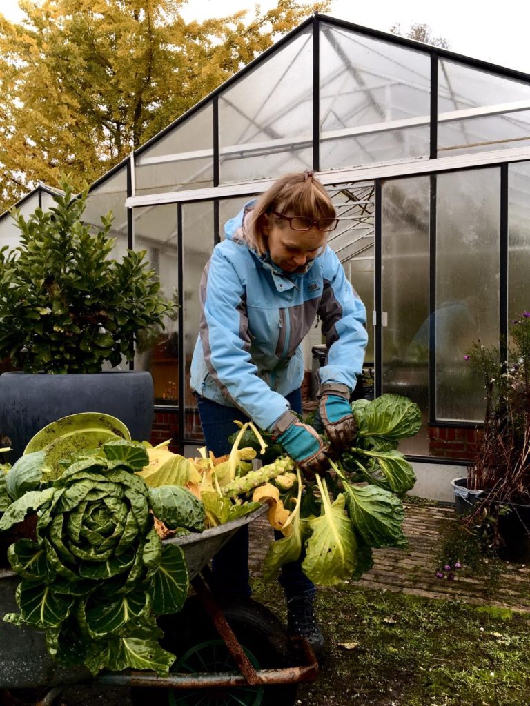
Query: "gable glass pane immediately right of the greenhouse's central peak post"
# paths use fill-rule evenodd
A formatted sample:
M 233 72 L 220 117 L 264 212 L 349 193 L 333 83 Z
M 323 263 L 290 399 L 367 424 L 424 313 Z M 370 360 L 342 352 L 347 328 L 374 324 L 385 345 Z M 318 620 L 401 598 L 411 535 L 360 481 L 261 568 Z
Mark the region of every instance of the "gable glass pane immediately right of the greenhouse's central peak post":
M 429 155 L 430 59 L 321 24 L 322 169 Z

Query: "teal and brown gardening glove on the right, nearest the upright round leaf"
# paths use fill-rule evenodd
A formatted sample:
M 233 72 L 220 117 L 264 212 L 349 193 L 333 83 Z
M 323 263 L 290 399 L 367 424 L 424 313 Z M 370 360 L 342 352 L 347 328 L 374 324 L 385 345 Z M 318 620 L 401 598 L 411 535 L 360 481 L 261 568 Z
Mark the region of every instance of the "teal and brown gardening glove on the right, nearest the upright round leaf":
M 357 423 L 348 400 L 350 390 L 340 383 L 324 383 L 320 386 L 319 408 L 314 418 L 314 426 L 324 427 L 329 443 L 336 451 L 353 446 L 357 434 Z

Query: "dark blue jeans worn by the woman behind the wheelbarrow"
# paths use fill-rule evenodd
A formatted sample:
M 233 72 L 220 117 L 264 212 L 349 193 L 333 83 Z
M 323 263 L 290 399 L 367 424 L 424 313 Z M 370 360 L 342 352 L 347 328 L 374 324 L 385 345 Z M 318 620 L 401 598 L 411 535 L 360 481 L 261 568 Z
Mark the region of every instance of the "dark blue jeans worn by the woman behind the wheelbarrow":
M 287 395 L 291 409 L 302 412 L 300 389 Z M 234 419 L 245 422 L 249 418 L 235 407 L 225 407 L 217 402 L 197 397 L 199 416 L 204 431 L 206 448 L 215 456 L 230 453 L 228 437 L 239 431 Z M 274 532 L 275 539 L 281 539 L 281 532 Z M 314 584 L 302 572 L 302 559 L 285 564 L 281 569 L 279 582 L 290 599 L 300 594 L 314 594 Z M 213 558 L 213 580 L 219 594 L 249 597 L 249 528 L 248 525 L 238 530 L 225 546 Z

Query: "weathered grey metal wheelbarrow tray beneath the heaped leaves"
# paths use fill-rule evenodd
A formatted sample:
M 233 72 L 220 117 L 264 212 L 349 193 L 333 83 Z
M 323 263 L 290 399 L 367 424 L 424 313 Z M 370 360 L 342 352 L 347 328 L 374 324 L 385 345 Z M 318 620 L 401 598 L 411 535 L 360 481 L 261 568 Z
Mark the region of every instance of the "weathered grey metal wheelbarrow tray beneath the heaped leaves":
M 224 525 L 164 542 L 182 547 L 191 580 L 237 530 L 263 515 L 266 509 L 264 505 Z M 52 659 L 46 649 L 44 633 L 30 626 L 4 622 L 6 613 L 18 611 L 15 600 L 18 582 L 18 576 L 12 571 L 0 569 L 0 688 L 37 688 L 90 679 L 86 668 L 61 666 Z

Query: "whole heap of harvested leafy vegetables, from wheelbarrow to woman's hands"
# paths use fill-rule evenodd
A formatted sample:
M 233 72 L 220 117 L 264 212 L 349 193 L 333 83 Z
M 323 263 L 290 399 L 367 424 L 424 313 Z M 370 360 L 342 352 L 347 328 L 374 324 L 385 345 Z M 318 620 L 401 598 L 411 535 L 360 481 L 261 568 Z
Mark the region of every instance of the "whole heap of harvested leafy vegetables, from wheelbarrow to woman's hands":
M 267 447 L 252 422 L 221 459 L 206 449 L 186 459 L 167 445 L 129 441 L 105 415 L 49 425 L 0 472 L 0 530 L 37 513 L 37 538 L 8 550 L 21 578 L 20 612 L 4 619 L 45 630 L 49 652 L 64 664 L 85 664 L 93 674 L 163 674 L 175 656 L 158 645 L 156 617 L 182 608 L 189 581 L 182 549 L 160 537 L 201 532 L 259 503 L 284 535 L 269 547 L 266 577 L 302 556 L 319 585 L 360 578 L 372 566 L 372 547 L 406 546 L 400 497 L 416 479 L 397 445 L 418 431 L 420 410 L 396 395 L 358 400 L 352 409 L 355 446 L 312 481 L 280 448 Z M 258 453 L 270 462 L 252 469 Z

